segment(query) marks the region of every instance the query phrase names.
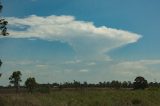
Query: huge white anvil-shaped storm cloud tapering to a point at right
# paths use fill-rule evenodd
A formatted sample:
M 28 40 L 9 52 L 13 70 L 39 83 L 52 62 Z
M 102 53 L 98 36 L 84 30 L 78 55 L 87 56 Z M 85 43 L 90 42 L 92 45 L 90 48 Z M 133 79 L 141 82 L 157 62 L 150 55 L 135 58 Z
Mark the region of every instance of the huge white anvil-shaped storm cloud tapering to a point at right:
M 73 16 L 8 17 L 12 38 L 39 38 L 67 42 L 80 58 L 107 59 L 105 53 L 123 45 L 137 42 L 141 35 L 108 28 L 96 27 L 92 22 L 79 21 Z

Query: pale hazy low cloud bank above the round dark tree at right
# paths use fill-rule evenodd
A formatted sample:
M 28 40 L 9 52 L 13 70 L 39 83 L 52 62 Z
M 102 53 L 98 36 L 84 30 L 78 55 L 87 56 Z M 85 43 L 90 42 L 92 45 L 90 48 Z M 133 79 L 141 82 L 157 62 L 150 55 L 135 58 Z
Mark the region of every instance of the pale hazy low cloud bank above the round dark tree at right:
M 124 61 L 112 65 L 112 74 L 117 74 L 121 77 L 135 78 L 136 76 L 144 76 L 149 80 L 160 77 L 159 68 L 160 60 L 138 60 L 138 61 Z

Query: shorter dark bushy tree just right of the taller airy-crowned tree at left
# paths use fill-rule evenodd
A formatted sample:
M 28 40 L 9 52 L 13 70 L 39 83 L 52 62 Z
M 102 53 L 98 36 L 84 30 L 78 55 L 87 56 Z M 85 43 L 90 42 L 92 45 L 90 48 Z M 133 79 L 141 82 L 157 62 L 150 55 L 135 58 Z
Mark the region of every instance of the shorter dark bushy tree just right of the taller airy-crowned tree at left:
M 35 78 L 29 77 L 27 78 L 27 80 L 25 81 L 25 86 L 28 89 L 28 92 L 32 93 L 33 89 L 36 87 L 37 83 Z

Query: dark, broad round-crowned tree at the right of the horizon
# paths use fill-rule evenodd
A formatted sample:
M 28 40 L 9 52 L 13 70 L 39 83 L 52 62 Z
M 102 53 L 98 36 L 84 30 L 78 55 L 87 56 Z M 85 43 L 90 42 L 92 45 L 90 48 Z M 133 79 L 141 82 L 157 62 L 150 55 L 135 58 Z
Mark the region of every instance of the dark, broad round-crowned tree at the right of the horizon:
M 148 82 L 144 77 L 138 76 L 133 83 L 134 89 L 145 89 L 148 87 Z

